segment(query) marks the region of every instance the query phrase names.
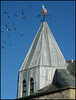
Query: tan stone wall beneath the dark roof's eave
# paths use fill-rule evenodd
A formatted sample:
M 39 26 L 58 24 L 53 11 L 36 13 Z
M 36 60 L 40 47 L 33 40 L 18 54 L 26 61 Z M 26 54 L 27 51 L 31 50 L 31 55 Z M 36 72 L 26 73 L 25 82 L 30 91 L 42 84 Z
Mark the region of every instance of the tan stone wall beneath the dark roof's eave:
M 30 98 L 29 100 L 38 99 L 75 99 L 75 89 L 68 89 L 56 93 L 51 93 L 47 95 L 37 96 Z

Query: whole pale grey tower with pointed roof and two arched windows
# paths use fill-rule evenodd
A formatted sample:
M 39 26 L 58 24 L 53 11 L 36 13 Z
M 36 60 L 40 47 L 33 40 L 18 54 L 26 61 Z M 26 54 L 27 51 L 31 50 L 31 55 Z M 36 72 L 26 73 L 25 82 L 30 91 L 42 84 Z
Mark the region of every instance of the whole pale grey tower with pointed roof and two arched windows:
M 43 20 L 19 70 L 17 98 L 32 95 L 48 86 L 53 82 L 56 69 L 65 68 L 64 56 Z

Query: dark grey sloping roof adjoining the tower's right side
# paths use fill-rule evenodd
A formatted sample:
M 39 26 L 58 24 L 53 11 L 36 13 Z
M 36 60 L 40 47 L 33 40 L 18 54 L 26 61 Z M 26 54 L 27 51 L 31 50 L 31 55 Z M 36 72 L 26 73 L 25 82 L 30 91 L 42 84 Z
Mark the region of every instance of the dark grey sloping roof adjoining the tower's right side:
M 56 70 L 60 74 L 64 82 L 66 83 L 66 86 L 63 86 L 61 84 L 61 81 L 56 80 L 55 83 L 52 83 L 38 90 L 37 92 L 35 92 L 34 95 L 47 94 L 47 93 L 62 91 L 62 90 L 69 89 L 69 88 L 76 88 L 75 87 L 75 74 L 74 74 L 75 62 L 72 63 L 71 61 L 68 61 L 67 63 L 68 63 L 67 69 L 57 69 Z

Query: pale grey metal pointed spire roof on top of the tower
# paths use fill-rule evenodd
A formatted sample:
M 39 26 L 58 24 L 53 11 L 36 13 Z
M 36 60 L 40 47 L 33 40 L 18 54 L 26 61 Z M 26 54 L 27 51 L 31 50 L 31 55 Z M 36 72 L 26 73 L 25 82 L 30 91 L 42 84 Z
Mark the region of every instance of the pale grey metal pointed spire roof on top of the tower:
M 48 24 L 42 22 L 20 71 L 35 66 L 64 68 L 65 65 L 66 61 Z

